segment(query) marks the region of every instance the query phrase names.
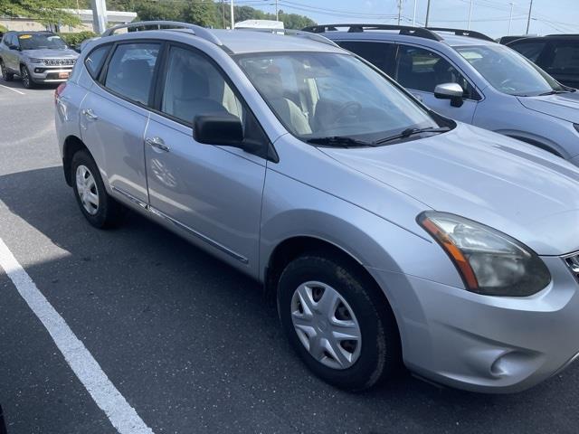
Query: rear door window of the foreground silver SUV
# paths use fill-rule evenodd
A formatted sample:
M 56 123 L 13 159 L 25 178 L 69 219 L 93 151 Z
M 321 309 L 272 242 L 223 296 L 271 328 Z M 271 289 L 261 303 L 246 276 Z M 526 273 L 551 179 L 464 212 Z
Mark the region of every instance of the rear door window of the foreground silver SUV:
M 105 86 L 125 98 L 147 104 L 159 50 L 158 43 L 119 45 L 109 61 Z

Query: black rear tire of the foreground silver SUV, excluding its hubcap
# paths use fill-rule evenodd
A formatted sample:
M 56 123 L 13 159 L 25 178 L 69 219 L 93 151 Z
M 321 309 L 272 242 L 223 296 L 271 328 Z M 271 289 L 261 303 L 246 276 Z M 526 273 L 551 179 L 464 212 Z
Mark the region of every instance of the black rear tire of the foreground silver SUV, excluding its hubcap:
M 90 175 L 92 175 L 94 179 L 94 189 L 98 193 L 99 204 L 94 214 L 85 209 L 85 205 L 81 201 L 81 194 L 79 193 L 77 186 L 76 174 L 78 167 L 81 165 L 89 169 Z M 125 209 L 107 193 L 102 178 L 100 177 L 99 168 L 88 151 L 83 149 L 72 156 L 71 180 L 76 202 L 79 204 L 82 214 L 84 214 L 84 217 L 92 226 L 99 229 L 105 229 L 118 226 L 119 223 L 122 222 Z

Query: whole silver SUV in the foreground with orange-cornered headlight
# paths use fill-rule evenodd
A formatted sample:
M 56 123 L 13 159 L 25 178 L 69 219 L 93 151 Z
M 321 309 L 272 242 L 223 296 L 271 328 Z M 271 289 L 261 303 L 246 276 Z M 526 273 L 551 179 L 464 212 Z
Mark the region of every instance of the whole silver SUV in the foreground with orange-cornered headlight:
M 348 390 L 403 362 L 515 392 L 577 357 L 579 169 L 316 34 L 181 25 L 91 42 L 55 92 L 90 224 L 130 208 L 258 279 Z

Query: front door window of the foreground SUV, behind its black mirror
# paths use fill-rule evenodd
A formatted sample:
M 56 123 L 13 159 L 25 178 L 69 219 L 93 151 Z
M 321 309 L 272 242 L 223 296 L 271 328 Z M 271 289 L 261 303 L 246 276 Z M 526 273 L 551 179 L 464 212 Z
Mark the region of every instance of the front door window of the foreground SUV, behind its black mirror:
M 171 47 L 166 65 L 162 112 L 187 124 L 208 113 L 230 113 L 242 119 L 242 103 L 204 56 Z

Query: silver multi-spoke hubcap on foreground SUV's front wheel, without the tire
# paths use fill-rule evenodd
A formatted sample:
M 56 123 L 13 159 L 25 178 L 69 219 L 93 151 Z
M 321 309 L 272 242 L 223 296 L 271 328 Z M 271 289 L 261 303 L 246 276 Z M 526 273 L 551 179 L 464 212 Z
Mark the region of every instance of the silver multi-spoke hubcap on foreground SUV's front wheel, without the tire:
M 346 369 L 356 363 L 362 333 L 346 299 L 325 283 L 306 282 L 291 297 L 291 321 L 299 341 L 319 363 Z

